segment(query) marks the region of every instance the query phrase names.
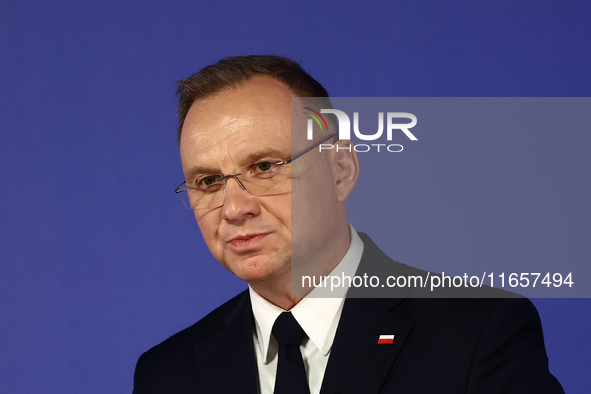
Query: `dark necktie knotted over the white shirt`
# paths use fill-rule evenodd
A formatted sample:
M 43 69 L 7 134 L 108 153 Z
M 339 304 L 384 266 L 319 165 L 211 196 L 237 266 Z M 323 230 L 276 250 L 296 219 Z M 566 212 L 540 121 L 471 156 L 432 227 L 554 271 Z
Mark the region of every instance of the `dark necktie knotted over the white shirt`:
M 306 333 L 291 312 L 283 312 L 271 331 L 279 344 L 274 394 L 309 394 L 300 345 Z

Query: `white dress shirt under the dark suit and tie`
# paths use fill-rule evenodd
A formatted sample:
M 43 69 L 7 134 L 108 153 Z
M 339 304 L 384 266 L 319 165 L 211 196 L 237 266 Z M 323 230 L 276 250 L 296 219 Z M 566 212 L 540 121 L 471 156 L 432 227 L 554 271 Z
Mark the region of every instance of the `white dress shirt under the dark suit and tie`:
M 329 275 L 342 277 L 344 274 L 353 277 L 357 271 L 363 254 L 363 241 L 353 227 L 349 227 L 351 234 L 349 249 Z M 315 288 L 291 309 L 293 317 L 308 336 L 302 342 L 300 351 L 306 368 L 310 394 L 320 393 L 347 290 L 348 287 L 341 287 L 331 293 L 332 298 L 314 298 L 325 291 L 322 288 Z M 275 319 L 285 310 L 258 295 L 250 286 L 248 291 L 256 327 L 253 338 L 259 372 L 259 393 L 273 394 L 278 346 L 271 335 L 271 330 Z

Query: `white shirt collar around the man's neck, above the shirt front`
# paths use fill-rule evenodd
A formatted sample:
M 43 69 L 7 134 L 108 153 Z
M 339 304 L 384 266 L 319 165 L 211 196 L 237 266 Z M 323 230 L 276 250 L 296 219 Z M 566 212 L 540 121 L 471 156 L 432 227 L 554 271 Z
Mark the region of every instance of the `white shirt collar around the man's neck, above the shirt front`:
M 353 226 L 349 225 L 349 227 L 351 244 L 341 262 L 329 274 L 331 276 L 353 277 L 361 261 L 363 241 Z M 320 287 L 313 289 L 291 309 L 291 313 L 310 341 L 324 356 L 328 355 L 332 347 L 348 287 L 335 289 L 330 294 L 326 293 L 326 290 L 326 288 Z M 276 352 L 276 349 L 269 351 L 271 330 L 277 317 L 285 310 L 261 297 L 250 286 L 248 291 L 255 319 L 256 342 L 260 347 L 261 354 L 266 355 L 263 363 L 267 364 L 275 357 Z

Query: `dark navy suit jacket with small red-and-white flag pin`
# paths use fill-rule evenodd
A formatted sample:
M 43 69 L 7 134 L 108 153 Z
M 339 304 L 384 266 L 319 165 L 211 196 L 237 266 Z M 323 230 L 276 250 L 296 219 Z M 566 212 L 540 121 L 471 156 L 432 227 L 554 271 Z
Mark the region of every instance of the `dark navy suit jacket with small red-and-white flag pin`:
M 360 236 L 358 274 L 385 265 L 397 275 L 424 276 Z M 548 370 L 540 319 L 529 300 L 401 294 L 345 300 L 322 394 L 564 392 Z M 134 393 L 256 394 L 253 327 L 245 291 L 144 353 Z M 394 334 L 393 343 L 378 344 L 383 334 Z

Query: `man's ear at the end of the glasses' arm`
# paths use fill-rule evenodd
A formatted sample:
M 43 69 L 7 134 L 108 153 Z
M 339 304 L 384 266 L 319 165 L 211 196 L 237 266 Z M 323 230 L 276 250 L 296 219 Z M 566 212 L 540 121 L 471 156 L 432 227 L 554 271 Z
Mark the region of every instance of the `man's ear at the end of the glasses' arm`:
M 338 141 L 331 153 L 333 154 L 337 202 L 345 202 L 357 183 L 359 159 L 350 140 Z

